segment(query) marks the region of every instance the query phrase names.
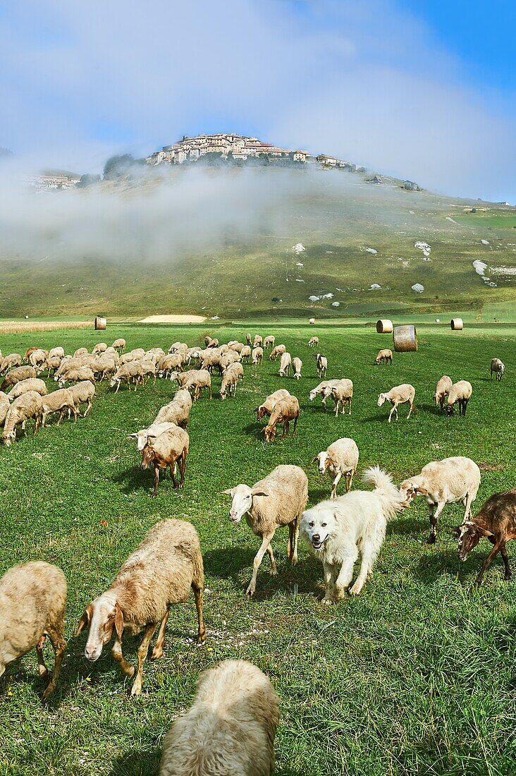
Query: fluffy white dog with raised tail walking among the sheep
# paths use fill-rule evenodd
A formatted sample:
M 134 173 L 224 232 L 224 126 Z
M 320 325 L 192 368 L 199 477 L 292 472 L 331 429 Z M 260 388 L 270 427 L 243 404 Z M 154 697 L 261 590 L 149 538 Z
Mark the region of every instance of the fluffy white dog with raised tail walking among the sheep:
M 327 605 L 344 597 L 358 553 L 362 565 L 349 592 L 358 595 L 362 590 L 385 539 L 387 519 L 405 505 L 392 477 L 379 466 L 366 469 L 362 481 L 374 485 L 375 490 L 353 490 L 334 501 L 321 501 L 301 518 L 303 541 L 323 563 L 323 603 Z

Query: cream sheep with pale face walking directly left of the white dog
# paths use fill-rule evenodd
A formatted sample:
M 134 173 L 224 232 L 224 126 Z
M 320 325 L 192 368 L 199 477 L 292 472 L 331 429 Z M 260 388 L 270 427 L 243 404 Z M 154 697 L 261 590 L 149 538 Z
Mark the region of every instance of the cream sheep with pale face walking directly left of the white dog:
M 224 490 L 230 495 L 230 522 L 245 520 L 251 531 L 261 539 L 261 546 L 253 562 L 253 573 L 246 595 L 252 596 L 256 590 L 258 568 L 265 553 L 271 561 L 271 573 L 278 573 L 270 546 L 276 528 L 289 526 L 287 556 L 293 566 L 297 563 L 297 536 L 299 521 L 308 501 L 308 478 L 300 466 L 280 465 L 258 480 L 252 487 L 240 484 Z

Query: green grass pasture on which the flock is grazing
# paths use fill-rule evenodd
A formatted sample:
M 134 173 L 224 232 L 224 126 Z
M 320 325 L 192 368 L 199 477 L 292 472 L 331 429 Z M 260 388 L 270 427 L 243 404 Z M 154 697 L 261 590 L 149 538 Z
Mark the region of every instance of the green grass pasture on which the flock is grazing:
M 244 386 L 221 401 L 214 377 L 213 400 L 202 395 L 192 407 L 184 490 L 173 490 L 167 475 L 152 499 L 152 475 L 141 471 L 128 440 L 171 400 L 170 381 L 137 393 L 121 388 L 117 395 L 102 383 L 91 416 L 59 428 L 50 421 L 35 437 L 29 428 L 26 438 L 0 449 L 0 573 L 29 559 L 61 566 L 69 639 L 48 705 L 40 701 L 35 653 L 13 663 L 0 681 L 0 774 L 156 774 L 164 733 L 191 704 L 199 671 L 227 657 L 256 663 L 279 693 L 278 776 L 516 773 L 516 582 L 504 582 L 497 558 L 483 587 L 472 587 L 490 545 L 480 542 L 459 563 L 451 528 L 462 520 L 462 505 L 445 508 L 438 541 L 429 546 L 427 507 L 417 500 L 390 521 L 362 594 L 323 608 L 322 566 L 304 546 L 300 563 L 287 565 L 286 530 L 273 540 L 279 576 L 269 576 L 265 559 L 255 598 L 246 600 L 258 539 L 244 521 L 230 525 L 229 498 L 221 494 L 239 482 L 254 483 L 279 463 L 294 463 L 306 469 L 315 504 L 328 497 L 331 480 L 321 478 L 310 459 L 336 438 L 351 436 L 360 450 L 359 473 L 378 463 L 397 482 L 432 459 L 472 457 L 483 469 L 476 511 L 491 494 L 516 484 L 514 327 L 452 332 L 422 326 L 417 353 L 395 354 L 392 366 L 379 367 L 373 359 L 379 348 L 391 347 L 390 335 L 295 321 L 264 321 L 259 329 L 128 324 L 97 333 L 4 334 L 0 348 L 23 354 L 28 345 L 63 345 L 73 352 L 123 336 L 128 348 L 166 350 L 178 339 L 195 345 L 208 331 L 220 341 L 244 338 L 246 331 L 275 334 L 276 344 L 284 342 L 303 359 L 303 378 L 282 379 L 278 362 L 265 359 L 258 368 L 246 365 Z M 351 417 L 336 418 L 319 400 L 308 401 L 319 382 L 315 351 L 307 347 L 313 334 L 327 355 L 327 376 L 355 383 Z M 501 383 L 490 381 L 493 356 L 507 367 Z M 466 418 L 444 417 L 432 406 L 443 374 L 473 384 Z M 406 421 L 405 406 L 400 421 L 389 425 L 388 408 L 376 406 L 378 393 L 405 382 L 416 387 L 417 418 Z M 300 398 L 298 433 L 265 445 L 253 408 L 279 387 Z M 358 476 L 353 487 L 361 487 Z M 85 605 L 109 586 L 147 529 L 167 517 L 188 519 L 199 532 L 206 646 L 194 643 L 190 598 L 172 609 L 164 657 L 147 661 L 143 694 L 131 700 L 130 680 L 109 650 L 88 663 L 85 636 L 75 638 L 74 630 Z M 514 549 L 511 543 L 513 569 Z M 137 641 L 124 643 L 134 660 Z M 51 665 L 51 650 L 46 654 Z

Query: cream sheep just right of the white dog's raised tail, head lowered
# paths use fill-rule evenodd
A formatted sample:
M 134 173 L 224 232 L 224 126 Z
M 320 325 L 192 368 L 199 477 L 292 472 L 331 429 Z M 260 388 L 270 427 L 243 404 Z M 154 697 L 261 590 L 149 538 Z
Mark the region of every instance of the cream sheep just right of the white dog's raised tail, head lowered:
M 414 498 L 424 496 L 430 511 L 430 535 L 428 544 L 437 539 L 437 520 L 446 504 L 462 501 L 464 521 L 471 516 L 471 504 L 480 487 L 480 469 L 470 458 L 455 456 L 442 461 L 431 461 L 423 466 L 421 473 L 403 480 L 400 494 L 407 506 Z M 437 507 L 437 509 L 436 509 Z

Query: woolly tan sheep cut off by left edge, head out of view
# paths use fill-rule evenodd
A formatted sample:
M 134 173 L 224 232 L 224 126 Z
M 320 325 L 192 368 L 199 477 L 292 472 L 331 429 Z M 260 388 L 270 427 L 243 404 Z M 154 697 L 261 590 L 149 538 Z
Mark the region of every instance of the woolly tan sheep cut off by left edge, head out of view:
M 42 679 L 47 678 L 43 645 L 48 636 L 54 650 L 54 671 L 43 692 L 43 701 L 57 688 L 67 648 L 66 593 L 64 573 L 43 560 L 13 566 L 0 579 L 0 676 L 12 660 L 35 647 L 38 673 Z

